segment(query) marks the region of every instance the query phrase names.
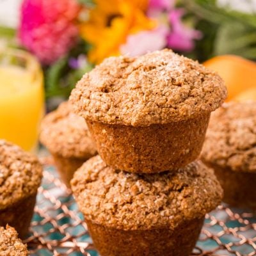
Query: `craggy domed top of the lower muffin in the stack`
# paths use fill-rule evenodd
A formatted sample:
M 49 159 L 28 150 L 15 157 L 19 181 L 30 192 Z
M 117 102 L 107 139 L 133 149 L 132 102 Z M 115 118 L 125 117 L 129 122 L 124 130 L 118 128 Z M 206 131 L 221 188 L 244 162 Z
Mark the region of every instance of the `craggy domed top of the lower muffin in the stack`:
M 175 228 L 202 218 L 221 202 L 222 189 L 202 162 L 175 172 L 135 174 L 89 159 L 71 182 L 86 220 L 123 230 Z

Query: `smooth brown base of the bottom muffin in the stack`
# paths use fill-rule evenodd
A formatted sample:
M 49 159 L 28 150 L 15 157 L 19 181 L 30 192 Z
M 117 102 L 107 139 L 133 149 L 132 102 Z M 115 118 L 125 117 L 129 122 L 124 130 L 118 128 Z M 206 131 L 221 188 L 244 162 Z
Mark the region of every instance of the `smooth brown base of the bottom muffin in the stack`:
M 204 218 L 175 230 L 117 230 L 86 220 L 95 248 L 101 256 L 187 256 L 192 252 Z

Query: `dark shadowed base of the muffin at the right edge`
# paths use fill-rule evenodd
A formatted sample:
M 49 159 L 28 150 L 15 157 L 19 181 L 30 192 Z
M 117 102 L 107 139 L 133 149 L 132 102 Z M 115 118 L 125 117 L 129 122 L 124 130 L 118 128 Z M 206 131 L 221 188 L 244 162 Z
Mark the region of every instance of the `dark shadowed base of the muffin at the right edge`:
M 211 167 L 224 190 L 223 202 L 256 210 L 256 173 L 234 172 L 212 164 Z

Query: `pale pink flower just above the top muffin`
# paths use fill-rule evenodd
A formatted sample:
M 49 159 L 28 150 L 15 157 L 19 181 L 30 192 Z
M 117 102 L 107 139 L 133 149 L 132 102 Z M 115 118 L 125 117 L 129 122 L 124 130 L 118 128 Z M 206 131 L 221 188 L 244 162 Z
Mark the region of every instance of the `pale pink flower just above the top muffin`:
M 126 43 L 120 46 L 120 52 L 124 55 L 138 56 L 150 51 L 161 50 L 166 46 L 167 35 L 168 28 L 166 26 L 129 35 Z

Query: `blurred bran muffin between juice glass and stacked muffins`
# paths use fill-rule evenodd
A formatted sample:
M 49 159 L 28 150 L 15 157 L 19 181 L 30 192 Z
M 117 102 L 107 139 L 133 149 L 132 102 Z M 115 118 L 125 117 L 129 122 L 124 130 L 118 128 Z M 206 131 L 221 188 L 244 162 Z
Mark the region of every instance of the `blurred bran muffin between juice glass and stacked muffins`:
M 97 154 L 86 122 L 72 112 L 68 102 L 45 116 L 40 141 L 51 152 L 61 180 L 68 188 L 77 168 Z

